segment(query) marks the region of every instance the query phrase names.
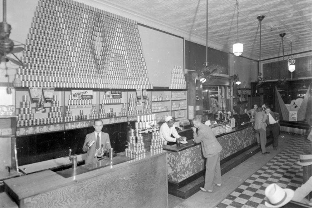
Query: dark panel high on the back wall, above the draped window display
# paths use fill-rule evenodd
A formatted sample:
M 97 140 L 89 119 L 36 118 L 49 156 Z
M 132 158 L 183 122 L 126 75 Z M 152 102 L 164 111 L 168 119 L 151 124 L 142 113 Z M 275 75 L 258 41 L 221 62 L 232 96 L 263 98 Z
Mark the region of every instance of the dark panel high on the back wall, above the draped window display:
M 293 72 L 293 78 L 311 77 L 312 76 L 312 61 L 311 56 L 295 58 L 296 70 Z M 281 79 L 283 77 L 290 78 L 291 72 L 288 71 L 287 59 L 283 61 L 264 63 L 262 66 L 263 77 L 267 80 Z

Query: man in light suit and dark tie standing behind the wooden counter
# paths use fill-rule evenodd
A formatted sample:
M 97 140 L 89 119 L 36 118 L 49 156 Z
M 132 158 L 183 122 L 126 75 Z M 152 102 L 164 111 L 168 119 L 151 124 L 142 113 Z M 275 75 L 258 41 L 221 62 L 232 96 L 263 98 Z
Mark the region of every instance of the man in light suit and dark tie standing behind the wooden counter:
M 85 136 L 85 142 L 82 147 L 84 152 L 87 152 L 85 158 L 85 164 L 99 161 L 98 156 L 95 155 L 96 151 L 101 149 L 106 150 L 111 148 L 110 136 L 107 133 L 102 132 L 103 122 L 101 119 L 94 120 L 94 132 Z

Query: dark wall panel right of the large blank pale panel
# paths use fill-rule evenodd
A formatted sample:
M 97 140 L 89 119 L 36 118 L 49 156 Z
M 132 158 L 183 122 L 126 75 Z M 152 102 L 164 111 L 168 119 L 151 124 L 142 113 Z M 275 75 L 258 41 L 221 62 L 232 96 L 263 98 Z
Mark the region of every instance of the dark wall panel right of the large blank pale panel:
M 185 41 L 185 68 L 201 70 L 206 61 L 206 47 L 194 42 Z M 208 47 L 209 66 L 218 66 L 217 73 L 229 74 L 229 53 Z

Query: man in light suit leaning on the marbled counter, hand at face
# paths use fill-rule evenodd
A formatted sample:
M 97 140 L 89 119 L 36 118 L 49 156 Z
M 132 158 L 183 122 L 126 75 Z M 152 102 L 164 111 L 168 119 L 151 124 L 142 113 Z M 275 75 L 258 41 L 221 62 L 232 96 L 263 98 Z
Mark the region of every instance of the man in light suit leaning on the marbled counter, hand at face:
M 207 158 L 205 186 L 200 187 L 200 189 L 204 192 L 211 193 L 213 185 L 221 186 L 220 152 L 222 151 L 222 146 L 217 141 L 211 128 L 202 124 L 201 116 L 195 116 L 193 118 L 193 124 L 194 142 L 201 143 L 202 154 Z

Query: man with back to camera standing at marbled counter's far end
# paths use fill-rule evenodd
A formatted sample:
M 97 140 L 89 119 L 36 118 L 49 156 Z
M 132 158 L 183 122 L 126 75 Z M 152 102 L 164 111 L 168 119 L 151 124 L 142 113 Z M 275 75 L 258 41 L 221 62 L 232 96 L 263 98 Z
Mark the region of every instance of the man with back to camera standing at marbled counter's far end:
M 262 108 L 258 108 L 255 114 L 255 126 L 256 138 L 258 146 L 261 146 L 262 154 L 270 154 L 266 151 L 266 119 L 267 115 Z

